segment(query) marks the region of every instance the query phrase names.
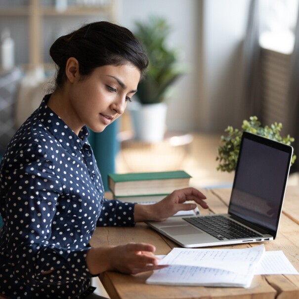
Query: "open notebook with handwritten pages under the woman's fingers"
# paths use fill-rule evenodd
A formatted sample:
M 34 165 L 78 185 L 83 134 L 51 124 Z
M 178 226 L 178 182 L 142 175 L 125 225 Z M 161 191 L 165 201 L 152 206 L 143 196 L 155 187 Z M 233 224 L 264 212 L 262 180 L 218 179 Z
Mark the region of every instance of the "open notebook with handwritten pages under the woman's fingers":
M 246 249 L 174 248 L 147 284 L 249 287 L 265 252 L 264 245 Z

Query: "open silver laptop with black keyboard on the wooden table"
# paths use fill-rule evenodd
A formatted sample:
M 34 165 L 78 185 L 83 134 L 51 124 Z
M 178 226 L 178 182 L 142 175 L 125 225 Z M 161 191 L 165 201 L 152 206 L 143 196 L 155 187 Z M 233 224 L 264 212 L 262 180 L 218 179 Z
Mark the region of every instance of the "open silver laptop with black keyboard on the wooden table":
M 146 223 L 185 248 L 274 240 L 292 155 L 290 145 L 244 132 L 227 214 Z

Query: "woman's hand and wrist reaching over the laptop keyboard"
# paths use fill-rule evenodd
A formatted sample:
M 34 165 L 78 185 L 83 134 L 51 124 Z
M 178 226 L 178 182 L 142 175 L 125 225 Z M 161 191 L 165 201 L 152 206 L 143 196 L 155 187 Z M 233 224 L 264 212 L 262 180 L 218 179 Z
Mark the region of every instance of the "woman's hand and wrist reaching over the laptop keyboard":
M 158 203 L 152 205 L 135 205 L 134 219 L 135 222 L 154 220 L 163 221 L 173 216 L 179 211 L 194 210 L 199 204 L 202 208 L 208 209 L 205 202 L 206 196 L 199 190 L 188 187 L 173 191 Z M 186 203 L 194 201 L 195 203 Z

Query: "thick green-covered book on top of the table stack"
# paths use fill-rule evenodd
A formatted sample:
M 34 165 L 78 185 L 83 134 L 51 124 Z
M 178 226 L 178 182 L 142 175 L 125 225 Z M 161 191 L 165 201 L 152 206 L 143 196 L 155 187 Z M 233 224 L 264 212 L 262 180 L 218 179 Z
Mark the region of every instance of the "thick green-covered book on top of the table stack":
M 190 178 L 185 171 L 109 173 L 108 185 L 116 197 L 170 194 L 188 187 Z

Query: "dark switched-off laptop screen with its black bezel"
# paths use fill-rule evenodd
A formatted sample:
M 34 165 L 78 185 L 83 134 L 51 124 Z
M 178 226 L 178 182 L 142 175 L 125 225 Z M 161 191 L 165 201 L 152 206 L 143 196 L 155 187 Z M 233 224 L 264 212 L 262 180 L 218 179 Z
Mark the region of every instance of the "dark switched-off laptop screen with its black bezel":
M 243 133 L 229 204 L 236 215 L 276 236 L 293 149 Z

